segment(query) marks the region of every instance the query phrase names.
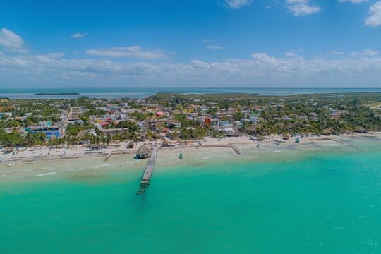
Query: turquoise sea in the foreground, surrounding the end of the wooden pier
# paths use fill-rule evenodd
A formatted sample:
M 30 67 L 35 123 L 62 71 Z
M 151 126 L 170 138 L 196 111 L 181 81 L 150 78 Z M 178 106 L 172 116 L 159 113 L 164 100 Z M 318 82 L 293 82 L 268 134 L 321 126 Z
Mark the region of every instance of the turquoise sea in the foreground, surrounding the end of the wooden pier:
M 141 169 L 1 183 L 0 253 L 381 253 L 380 140 L 356 146 L 159 166 L 145 200 Z

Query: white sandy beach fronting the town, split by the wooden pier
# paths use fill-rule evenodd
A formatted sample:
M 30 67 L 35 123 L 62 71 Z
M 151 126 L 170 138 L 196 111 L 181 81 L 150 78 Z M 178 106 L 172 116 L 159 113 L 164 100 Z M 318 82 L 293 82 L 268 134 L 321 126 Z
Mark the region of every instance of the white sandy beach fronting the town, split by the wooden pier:
M 275 159 L 282 160 L 289 157 L 298 157 L 300 151 L 313 151 L 317 149 L 349 149 L 350 140 L 355 138 L 381 138 L 381 133 L 371 135 L 341 135 L 324 137 L 301 138 L 300 143 L 295 143 L 294 139 L 286 140 L 280 145 L 273 143 L 274 138 L 269 137 L 260 141 L 260 148 L 256 147 L 257 141 L 250 140 L 250 137 L 239 138 L 207 138 L 202 140 L 202 145 L 198 142 L 188 143 L 181 147 L 161 147 L 157 159 L 157 167 L 165 169 L 179 164 L 197 166 L 208 162 L 234 162 L 234 159 L 242 160 L 262 160 Z M 348 142 L 347 142 L 348 141 Z M 241 150 L 242 155 L 237 155 L 231 148 L 231 144 L 236 145 Z M 140 147 L 143 143 L 137 143 L 135 147 Z M 95 176 L 102 172 L 106 174 L 113 170 L 139 170 L 143 171 L 147 164 L 146 159 L 134 159 L 135 149 L 126 150 L 126 143 L 118 146 L 110 145 L 100 153 L 88 153 L 83 146 L 75 146 L 65 149 L 49 149 L 38 147 L 18 152 L 17 155 L 2 154 L 4 158 L 0 164 L 0 182 L 13 181 L 15 179 L 40 179 L 48 176 L 60 174 L 75 174 L 80 176 Z M 111 158 L 105 160 L 109 153 Z M 184 159 L 179 160 L 179 152 L 183 152 Z M 7 165 L 12 162 L 11 167 Z

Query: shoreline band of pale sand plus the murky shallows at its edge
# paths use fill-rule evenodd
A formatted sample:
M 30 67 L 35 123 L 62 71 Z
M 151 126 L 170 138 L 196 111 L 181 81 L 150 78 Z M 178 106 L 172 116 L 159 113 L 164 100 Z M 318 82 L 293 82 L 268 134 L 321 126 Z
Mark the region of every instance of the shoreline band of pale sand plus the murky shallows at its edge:
M 274 138 L 274 137 L 273 137 Z M 351 143 L 358 138 L 359 147 L 363 144 L 377 143 L 381 138 L 381 133 L 373 135 L 342 135 L 340 137 L 306 137 L 300 143 L 294 140 L 286 140 L 281 145 L 275 145 L 273 138 L 260 142 L 260 148 L 256 147 L 258 142 L 252 141 L 249 137 L 224 138 L 217 141 L 216 138 L 203 140 L 202 145 L 196 142 L 182 147 L 162 147 L 159 149 L 159 156 L 155 170 L 171 171 L 174 168 L 202 168 L 210 164 L 241 164 L 251 162 L 279 163 L 292 162 L 295 159 L 315 157 L 320 152 L 332 152 L 340 155 L 342 152 L 356 152 L 357 147 Z M 374 139 L 377 138 L 377 139 Z M 369 140 L 369 141 L 368 141 Z M 241 155 L 237 155 L 231 144 L 234 144 Z M 354 144 L 356 145 L 356 144 Z M 0 164 L 0 183 L 29 182 L 29 181 L 54 181 L 54 179 L 66 179 L 69 181 L 84 181 L 95 183 L 97 181 L 107 181 L 115 174 L 130 173 L 140 177 L 147 165 L 147 159 L 135 159 L 135 150 L 124 151 L 119 147 L 110 148 L 113 150 L 112 156 L 108 152 L 97 154 L 78 153 L 83 147 L 68 151 L 65 157 L 19 157 L 14 160 L 11 167 L 7 167 L 6 162 Z M 139 144 L 138 144 L 138 147 Z M 370 147 L 373 147 L 371 145 Z M 49 149 L 48 149 L 49 150 Z M 84 151 L 84 150 L 82 150 Z M 31 152 L 36 152 L 32 150 Z M 76 153 L 75 153 L 76 152 Z M 179 154 L 183 153 L 183 159 L 179 159 Z M 26 154 L 25 154 L 26 155 Z M 33 161 L 33 163 L 30 163 Z M 125 179 L 123 176 L 122 179 Z M 132 181 L 132 180 L 131 180 Z

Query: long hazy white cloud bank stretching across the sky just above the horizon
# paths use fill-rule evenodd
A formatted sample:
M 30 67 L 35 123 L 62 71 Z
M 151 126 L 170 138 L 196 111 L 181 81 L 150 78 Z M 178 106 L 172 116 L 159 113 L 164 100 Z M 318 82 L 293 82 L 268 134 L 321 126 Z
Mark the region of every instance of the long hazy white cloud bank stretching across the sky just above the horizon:
M 135 49 L 139 52 L 138 49 Z M 202 61 L 193 59 L 189 63 L 140 63 L 104 61 L 102 59 L 63 59 L 63 54 L 0 54 L 0 80 L 6 78 L 35 78 L 44 80 L 119 80 L 126 78 L 152 78 L 160 80 L 231 80 L 258 81 L 284 85 L 285 80 L 297 82 L 304 80 L 304 85 L 320 83 L 327 85 L 332 80 L 375 80 L 367 85 L 379 85 L 381 75 L 381 57 L 371 50 L 356 52 L 350 57 L 325 59 L 315 57 L 305 59 L 295 53 L 278 58 L 265 52 L 250 54 L 248 59 L 226 59 L 224 61 Z M 378 81 L 377 81 L 378 80 Z M 361 84 L 364 84 L 362 82 Z

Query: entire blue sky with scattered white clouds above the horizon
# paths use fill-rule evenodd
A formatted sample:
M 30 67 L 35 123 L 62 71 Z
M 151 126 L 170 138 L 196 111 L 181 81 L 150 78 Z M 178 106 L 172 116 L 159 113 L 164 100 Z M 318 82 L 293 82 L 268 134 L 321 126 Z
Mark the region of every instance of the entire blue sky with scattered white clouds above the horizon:
M 4 87 L 381 87 L 379 0 L 8 1 Z

